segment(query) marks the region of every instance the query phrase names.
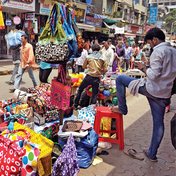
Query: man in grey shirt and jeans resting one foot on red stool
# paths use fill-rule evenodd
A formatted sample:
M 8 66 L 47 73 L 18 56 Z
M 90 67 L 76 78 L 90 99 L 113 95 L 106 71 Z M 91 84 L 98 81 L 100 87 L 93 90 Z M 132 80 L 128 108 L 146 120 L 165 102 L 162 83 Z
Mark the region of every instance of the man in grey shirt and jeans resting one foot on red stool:
M 146 96 L 151 109 L 153 131 L 150 146 L 144 150 L 144 154 L 150 161 L 156 162 L 157 151 L 164 135 L 165 108 L 170 103 L 173 81 L 176 78 L 176 49 L 165 42 L 165 34 L 159 28 L 150 29 L 144 40 L 153 49 L 146 78 L 119 75 L 116 79 L 118 107 L 112 107 L 112 111 L 127 114 L 126 87 L 133 95 L 140 93 Z M 141 63 L 138 67 L 142 67 Z

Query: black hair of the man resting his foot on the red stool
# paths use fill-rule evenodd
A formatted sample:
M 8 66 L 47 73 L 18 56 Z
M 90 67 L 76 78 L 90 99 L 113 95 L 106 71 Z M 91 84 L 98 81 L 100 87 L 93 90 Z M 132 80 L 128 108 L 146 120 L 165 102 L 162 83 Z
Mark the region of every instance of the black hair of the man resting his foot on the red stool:
M 154 37 L 158 38 L 161 41 L 165 41 L 166 38 L 164 32 L 161 29 L 155 27 L 147 32 L 144 41 L 147 42 L 147 40 L 153 40 Z

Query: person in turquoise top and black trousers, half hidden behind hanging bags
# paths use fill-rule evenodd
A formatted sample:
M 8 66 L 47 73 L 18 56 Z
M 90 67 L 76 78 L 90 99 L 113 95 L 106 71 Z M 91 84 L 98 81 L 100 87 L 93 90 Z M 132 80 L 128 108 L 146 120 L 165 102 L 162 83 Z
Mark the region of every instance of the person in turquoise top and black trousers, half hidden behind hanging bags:
M 40 61 L 39 80 L 41 83 L 48 83 L 48 77 L 52 71 L 52 64 Z

